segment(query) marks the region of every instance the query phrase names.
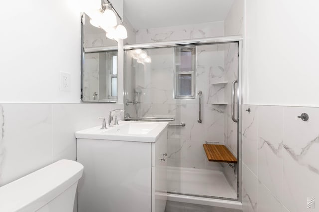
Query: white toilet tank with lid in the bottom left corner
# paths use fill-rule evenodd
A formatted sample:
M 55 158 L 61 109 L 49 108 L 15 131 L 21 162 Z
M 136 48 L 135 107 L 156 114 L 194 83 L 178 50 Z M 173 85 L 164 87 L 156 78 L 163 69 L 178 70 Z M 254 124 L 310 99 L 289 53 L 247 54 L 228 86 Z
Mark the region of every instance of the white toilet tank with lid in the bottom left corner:
M 0 212 L 73 212 L 82 164 L 60 160 L 0 187 Z

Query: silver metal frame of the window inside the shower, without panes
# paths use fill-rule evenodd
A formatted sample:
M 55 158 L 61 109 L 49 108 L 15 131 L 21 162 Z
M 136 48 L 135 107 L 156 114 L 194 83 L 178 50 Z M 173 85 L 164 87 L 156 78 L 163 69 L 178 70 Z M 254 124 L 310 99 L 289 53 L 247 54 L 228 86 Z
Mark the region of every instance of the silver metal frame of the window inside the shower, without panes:
M 195 89 L 196 89 L 196 46 L 178 46 L 174 48 L 175 55 L 175 70 L 174 70 L 174 98 L 175 99 L 195 99 Z M 191 71 L 179 71 L 178 62 L 180 61 L 180 52 L 191 52 Z M 180 75 L 189 75 L 191 74 L 191 95 L 180 95 Z

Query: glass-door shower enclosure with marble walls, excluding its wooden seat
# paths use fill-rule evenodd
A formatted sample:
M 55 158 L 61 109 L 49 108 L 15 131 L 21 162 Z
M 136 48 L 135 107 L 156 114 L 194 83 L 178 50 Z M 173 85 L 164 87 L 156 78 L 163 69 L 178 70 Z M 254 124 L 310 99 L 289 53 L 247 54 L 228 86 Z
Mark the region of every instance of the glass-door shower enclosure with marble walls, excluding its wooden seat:
M 241 39 L 125 49 L 127 120 L 169 122 L 168 192 L 240 201 L 239 163 L 208 161 L 203 144 L 225 145 L 240 160 Z

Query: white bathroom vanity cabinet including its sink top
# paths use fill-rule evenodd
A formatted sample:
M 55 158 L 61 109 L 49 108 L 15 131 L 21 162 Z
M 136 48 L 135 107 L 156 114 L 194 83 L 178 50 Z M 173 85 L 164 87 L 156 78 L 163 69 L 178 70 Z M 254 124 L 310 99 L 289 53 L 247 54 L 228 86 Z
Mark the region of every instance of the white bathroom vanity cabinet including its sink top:
M 78 212 L 164 212 L 167 125 L 122 121 L 75 133 L 84 166 Z

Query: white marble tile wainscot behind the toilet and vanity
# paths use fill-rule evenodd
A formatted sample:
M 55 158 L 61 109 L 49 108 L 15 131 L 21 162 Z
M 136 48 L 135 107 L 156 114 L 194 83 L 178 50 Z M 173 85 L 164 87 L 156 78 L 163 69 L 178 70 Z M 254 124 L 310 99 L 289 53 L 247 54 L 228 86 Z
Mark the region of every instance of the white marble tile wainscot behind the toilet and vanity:
M 76 159 L 74 132 L 123 104 L 0 104 L 0 186 L 59 159 Z

